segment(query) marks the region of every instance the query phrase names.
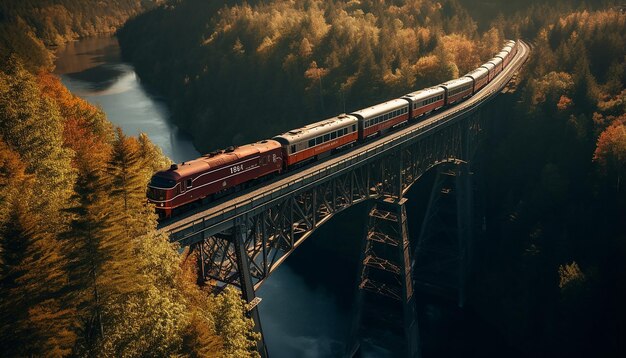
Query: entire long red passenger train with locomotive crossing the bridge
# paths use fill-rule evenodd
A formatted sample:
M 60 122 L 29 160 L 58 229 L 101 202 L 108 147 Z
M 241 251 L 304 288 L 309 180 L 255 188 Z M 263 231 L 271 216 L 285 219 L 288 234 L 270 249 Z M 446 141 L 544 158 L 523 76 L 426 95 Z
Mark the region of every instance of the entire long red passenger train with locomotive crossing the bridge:
M 256 143 L 231 146 L 155 173 L 148 202 L 159 218 L 195 202 L 208 202 L 333 155 L 395 128 L 419 122 L 458 104 L 488 83 L 515 57 L 519 42 L 509 40 L 492 59 L 457 79 L 411 92 L 368 108 L 293 129 Z

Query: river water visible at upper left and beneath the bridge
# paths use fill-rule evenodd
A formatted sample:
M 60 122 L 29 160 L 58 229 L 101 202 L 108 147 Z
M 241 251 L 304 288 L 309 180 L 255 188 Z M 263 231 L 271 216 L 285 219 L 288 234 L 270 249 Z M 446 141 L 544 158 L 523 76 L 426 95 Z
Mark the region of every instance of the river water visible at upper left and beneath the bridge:
M 146 133 L 173 161 L 199 156 L 191 138 L 170 123 L 165 101 L 141 83 L 132 65 L 120 59 L 115 38 L 89 38 L 58 49 L 55 72 L 70 91 L 100 106 L 111 122 L 127 134 Z M 420 182 L 409 193 L 407 213 L 412 218 L 423 217 L 428 198 L 428 179 Z M 366 209 L 367 203 L 357 205 L 318 229 L 257 292 L 272 358 L 343 355 L 352 326 Z M 418 222 L 409 221 L 410 232 L 419 232 Z M 454 304 L 420 295 L 418 314 L 424 357 L 516 353 L 502 344 L 495 329 Z M 361 356 L 399 354 L 403 343 L 397 332 L 375 324 L 365 326 Z

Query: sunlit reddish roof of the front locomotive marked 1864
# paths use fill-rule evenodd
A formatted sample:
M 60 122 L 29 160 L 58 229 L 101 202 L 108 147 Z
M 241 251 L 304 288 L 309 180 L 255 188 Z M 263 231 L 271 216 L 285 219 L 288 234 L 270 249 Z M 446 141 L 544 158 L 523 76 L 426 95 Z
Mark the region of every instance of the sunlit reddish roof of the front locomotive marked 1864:
M 279 142 L 271 139 L 242 145 L 240 147 L 228 147 L 226 149 L 213 151 L 209 154 L 204 154 L 197 159 L 173 164 L 170 169 L 157 172 L 154 176 L 176 181 L 183 177 L 202 173 L 209 169 L 231 164 L 237 162 L 239 159 L 255 154 L 262 154 L 280 147 Z

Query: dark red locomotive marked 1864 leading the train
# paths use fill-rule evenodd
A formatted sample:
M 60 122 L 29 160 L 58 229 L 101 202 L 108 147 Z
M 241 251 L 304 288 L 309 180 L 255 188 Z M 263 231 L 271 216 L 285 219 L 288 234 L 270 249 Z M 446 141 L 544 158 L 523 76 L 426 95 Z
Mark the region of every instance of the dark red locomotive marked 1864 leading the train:
M 148 199 L 167 218 L 179 206 L 228 194 L 282 169 L 282 147 L 275 140 L 229 147 L 157 172 L 148 184 Z

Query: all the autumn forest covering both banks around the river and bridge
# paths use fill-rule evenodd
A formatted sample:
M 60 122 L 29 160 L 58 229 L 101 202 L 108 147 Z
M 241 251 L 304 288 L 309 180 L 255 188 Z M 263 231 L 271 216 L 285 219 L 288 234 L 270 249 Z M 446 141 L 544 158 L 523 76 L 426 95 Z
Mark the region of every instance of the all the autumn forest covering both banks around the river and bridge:
M 443 82 L 525 39 L 516 90 L 484 113 L 486 237 L 469 306 L 521 356 L 626 354 L 623 7 L 104 4 L 0 3 L 2 356 L 257 356 L 238 292 L 209 294 L 194 254 L 155 230 L 145 187 L 170 161 L 50 73 L 54 46 L 114 31 L 201 151 Z

